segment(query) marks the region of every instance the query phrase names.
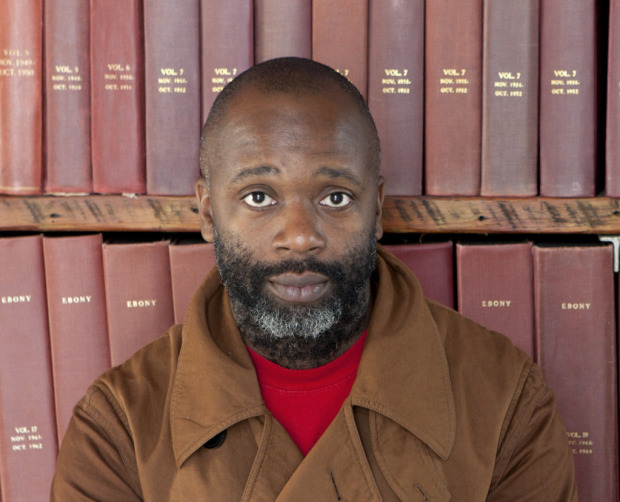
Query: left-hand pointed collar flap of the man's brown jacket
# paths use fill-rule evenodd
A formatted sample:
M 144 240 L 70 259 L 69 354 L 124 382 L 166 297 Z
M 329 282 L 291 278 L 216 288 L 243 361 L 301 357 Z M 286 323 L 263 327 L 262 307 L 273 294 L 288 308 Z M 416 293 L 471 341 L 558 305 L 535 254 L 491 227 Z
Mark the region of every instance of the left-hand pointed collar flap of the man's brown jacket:
M 170 403 L 177 466 L 209 439 L 267 408 L 214 269 L 192 300 Z

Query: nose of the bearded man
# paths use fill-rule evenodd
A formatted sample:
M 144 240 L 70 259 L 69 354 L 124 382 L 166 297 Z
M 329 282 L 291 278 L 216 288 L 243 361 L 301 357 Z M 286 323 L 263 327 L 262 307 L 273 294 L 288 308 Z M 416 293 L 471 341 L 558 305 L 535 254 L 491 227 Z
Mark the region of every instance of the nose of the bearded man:
M 316 254 L 325 247 L 325 237 L 319 228 L 319 215 L 311 204 L 287 204 L 277 217 L 280 219 L 279 229 L 273 239 L 276 250 Z

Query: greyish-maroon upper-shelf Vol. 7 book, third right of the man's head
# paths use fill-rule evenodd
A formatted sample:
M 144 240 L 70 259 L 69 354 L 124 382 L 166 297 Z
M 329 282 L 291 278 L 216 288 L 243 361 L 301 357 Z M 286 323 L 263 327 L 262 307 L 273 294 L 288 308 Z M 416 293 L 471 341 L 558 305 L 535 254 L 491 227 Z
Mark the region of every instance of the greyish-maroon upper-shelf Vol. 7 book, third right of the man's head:
M 485 0 L 482 195 L 538 193 L 539 0 Z

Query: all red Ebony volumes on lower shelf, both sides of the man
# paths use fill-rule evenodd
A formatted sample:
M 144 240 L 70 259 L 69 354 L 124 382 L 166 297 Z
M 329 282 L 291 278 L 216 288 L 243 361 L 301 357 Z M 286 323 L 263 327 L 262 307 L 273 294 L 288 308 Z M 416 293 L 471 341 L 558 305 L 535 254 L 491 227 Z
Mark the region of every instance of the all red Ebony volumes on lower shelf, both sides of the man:
M 612 249 L 451 241 L 386 248 L 424 294 L 502 332 L 555 391 L 584 500 L 618 494 Z M 213 246 L 0 239 L 2 497 L 43 500 L 74 404 L 111 365 L 183 321 Z M 455 266 L 456 265 L 456 266 Z

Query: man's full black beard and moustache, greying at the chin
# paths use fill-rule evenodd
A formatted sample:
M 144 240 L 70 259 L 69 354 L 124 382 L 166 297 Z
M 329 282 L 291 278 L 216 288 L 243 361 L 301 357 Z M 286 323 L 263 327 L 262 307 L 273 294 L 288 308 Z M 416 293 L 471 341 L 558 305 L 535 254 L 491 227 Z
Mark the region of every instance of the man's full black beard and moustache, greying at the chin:
M 344 352 L 362 334 L 376 259 L 374 229 L 339 263 L 316 259 L 259 262 L 239 239 L 222 238 L 217 230 L 214 244 L 241 336 L 267 359 L 289 368 L 320 366 Z M 266 291 L 268 277 L 305 270 L 329 277 L 333 294 L 317 304 L 298 305 L 284 304 Z

